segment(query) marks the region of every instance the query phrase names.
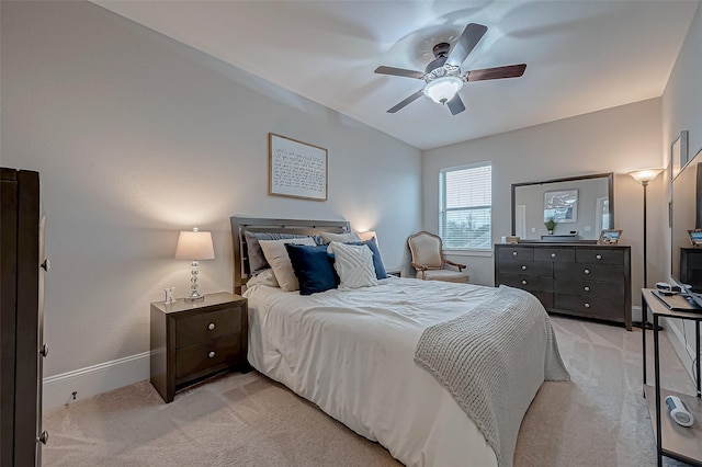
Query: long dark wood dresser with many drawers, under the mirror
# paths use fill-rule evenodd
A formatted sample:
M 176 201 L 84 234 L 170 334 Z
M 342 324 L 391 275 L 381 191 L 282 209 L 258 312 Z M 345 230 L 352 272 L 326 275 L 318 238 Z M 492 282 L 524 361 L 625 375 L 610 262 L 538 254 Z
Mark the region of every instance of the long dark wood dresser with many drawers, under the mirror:
M 546 311 L 632 329 L 631 248 L 593 243 L 497 243 L 495 285 L 532 293 Z

